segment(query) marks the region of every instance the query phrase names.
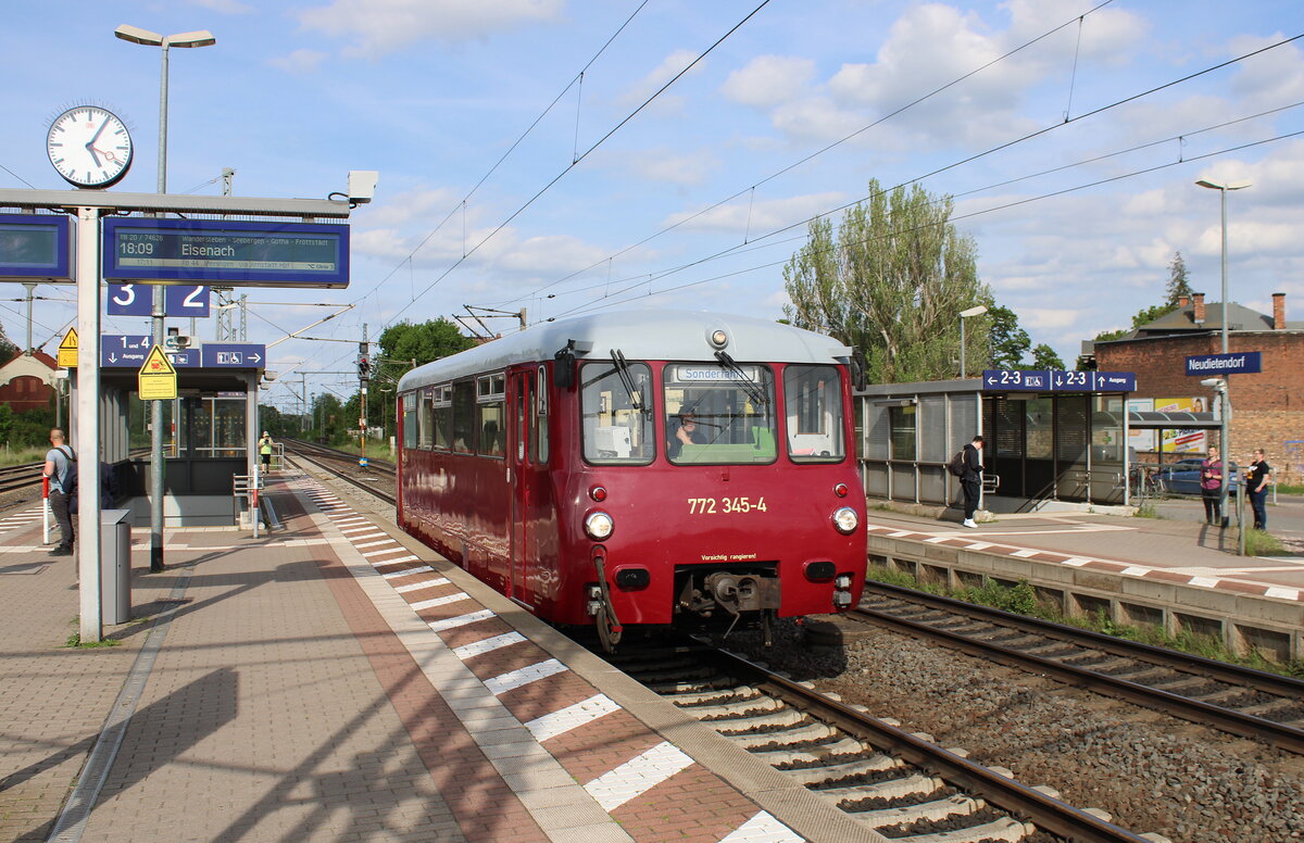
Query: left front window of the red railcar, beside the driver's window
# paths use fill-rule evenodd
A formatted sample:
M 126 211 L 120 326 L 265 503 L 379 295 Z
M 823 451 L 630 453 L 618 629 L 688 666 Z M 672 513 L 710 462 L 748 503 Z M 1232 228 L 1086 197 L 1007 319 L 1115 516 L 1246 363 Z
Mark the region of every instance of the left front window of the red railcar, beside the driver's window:
M 622 373 L 612 362 L 584 364 L 580 387 L 584 459 L 599 465 L 651 463 L 656 444 L 648 365 L 625 364 Z

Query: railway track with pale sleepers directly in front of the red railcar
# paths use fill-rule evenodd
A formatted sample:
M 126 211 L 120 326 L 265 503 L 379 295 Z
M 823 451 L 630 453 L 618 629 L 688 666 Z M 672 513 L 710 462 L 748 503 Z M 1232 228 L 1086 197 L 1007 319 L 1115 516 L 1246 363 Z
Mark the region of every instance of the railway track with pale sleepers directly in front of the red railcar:
M 928 735 L 704 645 L 606 657 L 704 724 L 884 836 L 917 843 L 1142 843 L 1108 821 L 969 761 Z

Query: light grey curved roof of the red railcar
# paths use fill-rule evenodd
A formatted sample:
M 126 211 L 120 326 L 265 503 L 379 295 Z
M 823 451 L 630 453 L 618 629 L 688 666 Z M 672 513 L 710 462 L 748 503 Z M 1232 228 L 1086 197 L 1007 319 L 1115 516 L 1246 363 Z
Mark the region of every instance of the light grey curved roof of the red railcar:
M 403 375 L 399 391 L 496 371 L 514 364 L 552 360 L 570 340 L 592 343 L 580 360 L 608 360 L 619 349 L 627 360 L 715 360 L 708 337 L 729 335 L 725 350 L 738 362 L 845 362 L 852 350 L 835 339 L 777 322 L 686 310 L 612 311 L 544 322 L 469 350 L 419 366 Z

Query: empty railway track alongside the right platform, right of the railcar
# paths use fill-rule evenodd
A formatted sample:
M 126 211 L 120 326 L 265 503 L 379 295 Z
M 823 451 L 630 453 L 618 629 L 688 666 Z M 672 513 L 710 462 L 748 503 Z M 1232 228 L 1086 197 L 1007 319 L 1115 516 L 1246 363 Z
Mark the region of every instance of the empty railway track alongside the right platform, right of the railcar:
M 1304 681 L 866 582 L 849 618 L 1304 753 Z

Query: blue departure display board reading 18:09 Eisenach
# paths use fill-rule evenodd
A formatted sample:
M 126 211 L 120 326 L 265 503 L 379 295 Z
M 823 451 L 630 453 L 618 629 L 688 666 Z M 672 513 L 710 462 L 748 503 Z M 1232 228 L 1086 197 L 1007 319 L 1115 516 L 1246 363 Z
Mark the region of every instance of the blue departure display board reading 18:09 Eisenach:
M 107 219 L 104 279 L 224 287 L 348 287 L 348 225 Z

